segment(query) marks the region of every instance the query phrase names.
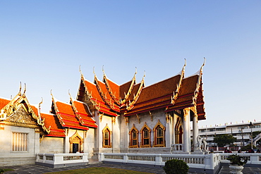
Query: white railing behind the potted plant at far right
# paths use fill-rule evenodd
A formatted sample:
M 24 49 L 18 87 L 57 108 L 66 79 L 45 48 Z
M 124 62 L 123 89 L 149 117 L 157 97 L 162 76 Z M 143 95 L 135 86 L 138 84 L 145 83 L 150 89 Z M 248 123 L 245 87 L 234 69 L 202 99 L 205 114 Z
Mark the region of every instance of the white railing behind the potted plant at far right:
M 226 160 L 226 158 L 231 154 L 219 154 L 219 161 L 221 163 L 229 163 L 229 160 Z M 239 156 L 243 156 L 248 159 L 247 164 L 260 164 L 261 165 L 261 154 L 251 154 L 251 153 L 238 153 Z

